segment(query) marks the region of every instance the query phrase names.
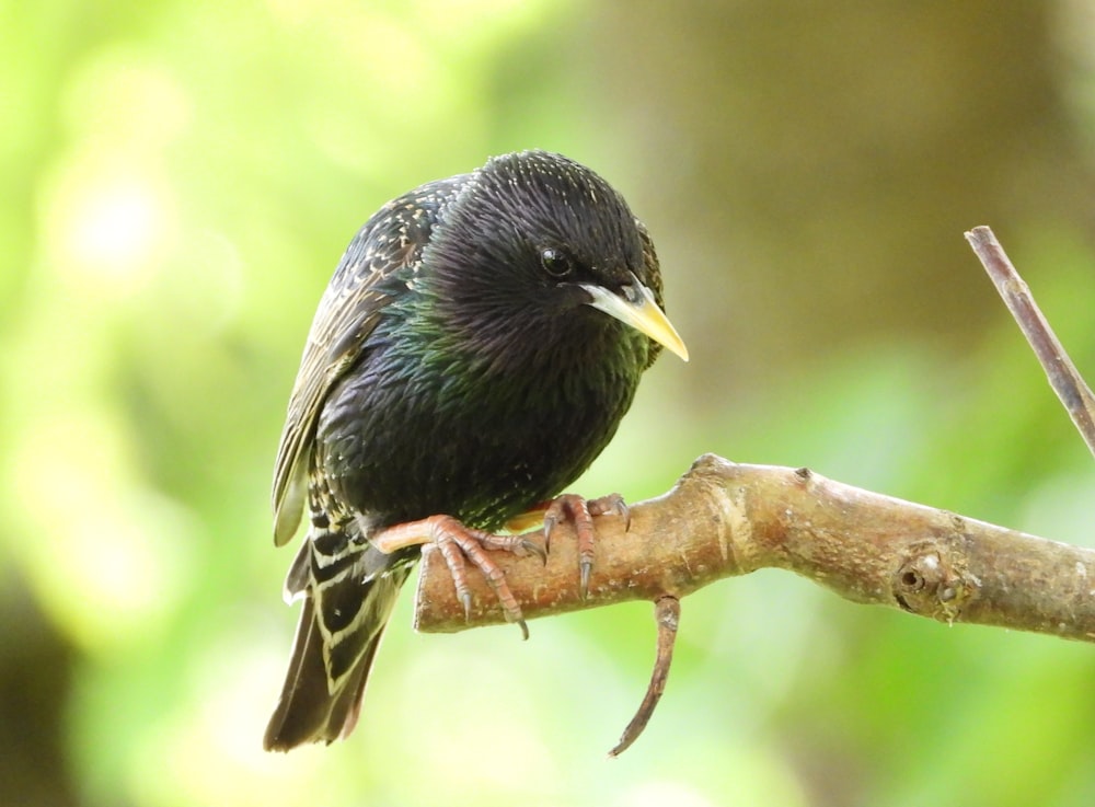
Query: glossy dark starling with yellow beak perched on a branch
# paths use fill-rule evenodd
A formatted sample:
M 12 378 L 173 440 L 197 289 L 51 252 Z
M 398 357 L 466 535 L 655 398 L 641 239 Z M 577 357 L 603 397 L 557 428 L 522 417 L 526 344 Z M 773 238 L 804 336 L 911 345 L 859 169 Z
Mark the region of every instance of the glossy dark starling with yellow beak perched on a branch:
M 608 445 L 661 348 L 688 360 L 661 297 L 646 227 L 562 154 L 494 157 L 368 219 L 320 300 L 275 462 L 275 544 L 308 518 L 285 581 L 303 606 L 267 750 L 354 729 L 422 544 L 442 550 L 465 607 L 464 561 L 480 568 L 527 636 L 484 550 L 544 557 L 502 532 L 538 508 L 545 538 L 563 518 L 626 511 L 619 497 L 561 492 Z

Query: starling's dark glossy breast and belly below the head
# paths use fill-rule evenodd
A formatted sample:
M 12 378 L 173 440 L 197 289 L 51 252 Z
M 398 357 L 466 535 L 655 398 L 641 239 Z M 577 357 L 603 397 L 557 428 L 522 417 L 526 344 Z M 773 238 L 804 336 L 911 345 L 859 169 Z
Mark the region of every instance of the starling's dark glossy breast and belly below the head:
M 492 361 L 378 343 L 320 418 L 316 462 L 333 497 L 391 522 L 443 512 L 495 529 L 557 494 L 615 433 L 643 357 L 537 348 Z

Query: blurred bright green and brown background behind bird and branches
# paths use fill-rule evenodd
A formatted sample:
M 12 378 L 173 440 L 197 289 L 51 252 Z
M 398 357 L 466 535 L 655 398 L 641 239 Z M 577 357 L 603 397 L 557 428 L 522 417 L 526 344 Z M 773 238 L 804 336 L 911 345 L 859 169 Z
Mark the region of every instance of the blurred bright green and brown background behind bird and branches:
M 0 803 L 1095 803 L 1095 649 L 785 573 L 418 636 L 361 725 L 264 754 L 295 611 L 268 484 L 314 304 L 388 198 L 489 154 L 593 166 L 689 365 L 575 489 L 698 454 L 1092 545 L 1095 463 L 963 232 L 1095 377 L 1095 4 L 0 1 Z

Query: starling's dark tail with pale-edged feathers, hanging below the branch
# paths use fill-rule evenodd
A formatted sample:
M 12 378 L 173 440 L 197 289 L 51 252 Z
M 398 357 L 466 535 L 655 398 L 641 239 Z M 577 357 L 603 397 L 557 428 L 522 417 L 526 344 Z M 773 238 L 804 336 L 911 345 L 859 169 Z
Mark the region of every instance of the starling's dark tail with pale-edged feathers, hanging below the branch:
M 304 607 L 263 739 L 267 751 L 332 742 L 354 729 L 377 646 L 412 565 L 406 556 L 336 533 L 306 541 L 286 580 L 287 597 L 302 595 Z

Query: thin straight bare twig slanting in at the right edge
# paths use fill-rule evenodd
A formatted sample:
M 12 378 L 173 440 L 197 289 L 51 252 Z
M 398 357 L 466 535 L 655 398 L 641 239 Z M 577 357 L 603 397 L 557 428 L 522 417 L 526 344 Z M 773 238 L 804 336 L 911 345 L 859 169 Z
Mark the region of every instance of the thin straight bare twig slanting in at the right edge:
M 1084 383 L 1053 328 L 1034 301 L 1030 289 L 1007 260 L 992 230 L 988 227 L 975 227 L 966 233 L 966 240 L 973 247 L 996 291 L 1004 298 L 1007 310 L 1030 343 L 1053 392 L 1064 404 L 1087 448 L 1095 454 L 1095 394 Z

